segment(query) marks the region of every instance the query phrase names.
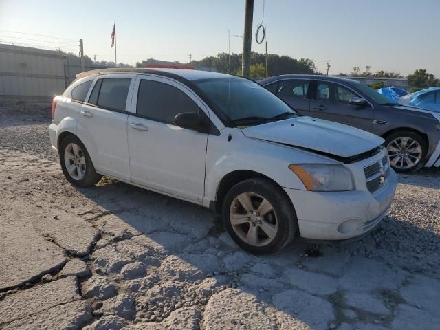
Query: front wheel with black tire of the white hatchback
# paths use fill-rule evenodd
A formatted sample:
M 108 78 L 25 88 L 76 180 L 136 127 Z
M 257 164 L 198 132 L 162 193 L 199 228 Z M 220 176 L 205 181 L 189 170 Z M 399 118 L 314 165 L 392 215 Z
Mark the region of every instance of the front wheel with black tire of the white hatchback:
M 263 201 L 265 207 L 260 208 Z M 231 214 L 235 218 L 234 224 Z M 281 250 L 298 231 L 292 201 L 269 179 L 247 179 L 233 186 L 223 201 L 222 217 L 232 239 L 252 254 L 271 254 Z

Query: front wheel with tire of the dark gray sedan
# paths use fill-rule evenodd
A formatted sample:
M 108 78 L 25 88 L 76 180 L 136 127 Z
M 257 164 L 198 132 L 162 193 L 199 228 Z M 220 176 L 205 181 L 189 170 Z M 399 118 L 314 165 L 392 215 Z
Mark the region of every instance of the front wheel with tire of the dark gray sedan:
M 402 144 L 404 144 L 403 148 Z M 396 172 L 415 172 L 422 168 L 426 162 L 425 157 L 428 146 L 423 137 L 418 133 L 412 131 L 397 131 L 391 133 L 386 137 L 384 145 L 390 155 L 391 167 Z M 408 146 L 410 146 L 410 148 L 406 149 Z M 400 150 L 398 151 L 399 148 Z M 408 151 L 412 151 L 412 153 L 408 153 Z M 409 159 L 410 162 L 408 162 L 407 159 Z

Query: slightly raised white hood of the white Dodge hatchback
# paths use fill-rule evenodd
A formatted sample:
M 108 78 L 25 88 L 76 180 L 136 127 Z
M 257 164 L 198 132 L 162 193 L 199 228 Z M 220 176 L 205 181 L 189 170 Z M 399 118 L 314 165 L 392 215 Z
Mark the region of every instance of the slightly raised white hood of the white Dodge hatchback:
M 311 117 L 296 117 L 242 129 L 246 137 L 307 148 L 338 157 L 371 151 L 384 139 L 351 126 Z

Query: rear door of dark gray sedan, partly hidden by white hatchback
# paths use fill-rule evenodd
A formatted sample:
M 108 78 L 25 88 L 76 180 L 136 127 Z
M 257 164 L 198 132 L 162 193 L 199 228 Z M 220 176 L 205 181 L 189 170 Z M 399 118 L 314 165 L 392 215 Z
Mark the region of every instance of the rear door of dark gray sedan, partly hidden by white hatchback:
M 309 115 L 310 100 L 307 98 L 309 83 L 310 80 L 307 79 L 279 80 L 276 89 L 274 86 L 269 86 L 268 89 L 272 93 L 275 90 L 275 95 L 278 98 L 281 98 L 301 115 Z

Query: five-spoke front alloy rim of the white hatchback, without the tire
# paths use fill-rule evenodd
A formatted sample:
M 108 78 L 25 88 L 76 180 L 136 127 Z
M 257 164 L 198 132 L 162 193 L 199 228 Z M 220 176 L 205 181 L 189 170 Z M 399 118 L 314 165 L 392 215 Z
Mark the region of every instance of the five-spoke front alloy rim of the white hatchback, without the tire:
M 271 243 L 278 232 L 278 220 L 272 204 L 254 192 L 243 192 L 231 203 L 230 222 L 242 241 L 252 246 Z

